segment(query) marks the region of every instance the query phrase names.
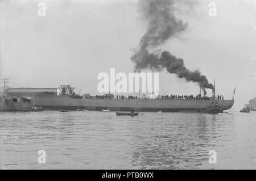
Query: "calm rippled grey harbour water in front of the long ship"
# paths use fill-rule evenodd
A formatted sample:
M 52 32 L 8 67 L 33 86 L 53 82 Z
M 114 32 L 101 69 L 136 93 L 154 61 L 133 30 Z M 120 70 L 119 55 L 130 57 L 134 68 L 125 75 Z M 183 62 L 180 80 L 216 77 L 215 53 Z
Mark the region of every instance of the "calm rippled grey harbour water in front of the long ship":
M 256 112 L 143 114 L 1 112 L 0 169 L 256 169 Z

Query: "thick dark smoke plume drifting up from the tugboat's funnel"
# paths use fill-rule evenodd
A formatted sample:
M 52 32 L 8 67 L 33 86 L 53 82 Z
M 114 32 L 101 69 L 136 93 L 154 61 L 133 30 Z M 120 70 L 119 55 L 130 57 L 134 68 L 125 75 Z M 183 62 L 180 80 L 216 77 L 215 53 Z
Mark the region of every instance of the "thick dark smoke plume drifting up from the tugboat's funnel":
M 177 58 L 168 51 L 160 54 L 150 53 L 150 50 L 180 35 L 188 27 L 187 23 L 174 15 L 175 0 L 141 0 L 139 10 L 147 20 L 148 26 L 137 52 L 131 56 L 131 61 L 135 63 L 135 71 L 140 72 L 147 68 L 158 71 L 166 69 L 168 73 L 176 74 L 187 82 L 197 82 L 205 88 L 213 89 L 205 75 L 201 75 L 199 70 L 187 69 L 182 58 Z

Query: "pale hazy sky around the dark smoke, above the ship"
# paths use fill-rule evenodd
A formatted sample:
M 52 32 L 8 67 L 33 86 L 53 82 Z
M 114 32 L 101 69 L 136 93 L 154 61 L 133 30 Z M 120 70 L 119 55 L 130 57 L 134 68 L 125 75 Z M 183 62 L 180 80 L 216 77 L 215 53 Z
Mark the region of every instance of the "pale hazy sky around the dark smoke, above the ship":
M 38 3 L 46 3 L 46 16 Z M 187 2 L 187 1 L 186 1 Z M 242 108 L 256 95 L 256 1 L 179 3 L 177 17 L 188 30 L 162 50 L 199 69 L 217 94 Z M 209 16 L 209 2 L 217 16 Z M 146 31 L 137 1 L 0 1 L 0 76 L 11 87 L 58 87 L 71 84 L 97 94 L 97 75 L 110 68 L 129 73 L 133 49 Z M 253 59 L 254 55 L 254 59 Z M 196 83 L 160 73 L 160 94 L 198 94 Z M 210 90 L 208 91 L 210 95 Z

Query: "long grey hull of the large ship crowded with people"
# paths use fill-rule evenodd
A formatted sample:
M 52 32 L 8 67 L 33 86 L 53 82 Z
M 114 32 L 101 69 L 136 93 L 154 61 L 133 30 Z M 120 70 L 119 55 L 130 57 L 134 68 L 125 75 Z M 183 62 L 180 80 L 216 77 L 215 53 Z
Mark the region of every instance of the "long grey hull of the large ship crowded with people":
M 33 95 L 32 104 L 46 110 L 90 111 L 184 111 L 205 112 L 212 100 L 171 100 L 171 99 L 74 99 L 69 95 Z M 230 109 L 234 100 L 217 100 L 223 110 Z

